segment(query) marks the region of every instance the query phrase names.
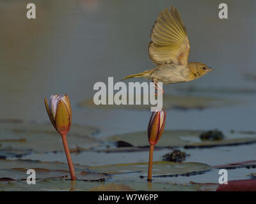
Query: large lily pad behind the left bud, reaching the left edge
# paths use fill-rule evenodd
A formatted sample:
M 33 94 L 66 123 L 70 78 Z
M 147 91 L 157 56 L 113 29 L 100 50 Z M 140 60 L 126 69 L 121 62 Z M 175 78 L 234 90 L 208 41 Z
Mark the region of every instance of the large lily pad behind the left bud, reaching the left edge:
M 98 131 L 99 129 L 90 126 L 72 124 L 67 135 L 68 147 L 71 151 L 77 151 L 101 145 L 99 140 L 88 136 Z M 61 136 L 50 123 L 3 122 L 0 123 L 0 150 L 6 149 L 57 152 L 63 151 L 63 143 Z

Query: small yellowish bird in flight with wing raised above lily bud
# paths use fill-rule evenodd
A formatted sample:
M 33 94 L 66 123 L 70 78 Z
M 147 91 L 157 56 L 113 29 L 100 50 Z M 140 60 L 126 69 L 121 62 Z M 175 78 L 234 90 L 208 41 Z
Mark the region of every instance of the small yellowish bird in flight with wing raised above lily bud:
M 164 8 L 152 27 L 148 43 L 148 56 L 157 66 L 122 80 L 133 77 L 152 80 L 156 90 L 160 90 L 159 94 L 163 94 L 164 90 L 158 82 L 189 82 L 214 70 L 202 62 L 188 62 L 189 50 L 188 34 L 179 11 L 173 6 L 170 6 L 170 10 Z

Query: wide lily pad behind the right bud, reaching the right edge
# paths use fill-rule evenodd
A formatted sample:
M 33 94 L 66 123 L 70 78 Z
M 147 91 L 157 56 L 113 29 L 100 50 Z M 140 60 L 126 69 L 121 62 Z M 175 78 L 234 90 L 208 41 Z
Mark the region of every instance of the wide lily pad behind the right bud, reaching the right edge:
M 225 139 L 216 141 L 202 141 L 200 140 L 200 134 L 204 131 L 193 130 L 165 130 L 161 140 L 157 143 L 157 147 L 215 147 L 223 145 L 239 145 L 246 143 L 255 143 L 256 134 L 233 131 L 224 132 Z M 122 140 L 130 143 L 134 147 L 148 146 L 147 132 L 138 133 L 126 133 L 122 135 L 115 135 L 106 138 L 111 142 Z

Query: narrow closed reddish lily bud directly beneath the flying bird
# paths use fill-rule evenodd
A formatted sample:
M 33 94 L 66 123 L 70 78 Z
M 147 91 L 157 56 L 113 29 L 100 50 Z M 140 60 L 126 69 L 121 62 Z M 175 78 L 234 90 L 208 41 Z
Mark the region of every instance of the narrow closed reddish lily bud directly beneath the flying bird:
M 153 112 L 148 123 L 148 142 L 156 145 L 164 131 L 166 111 Z

